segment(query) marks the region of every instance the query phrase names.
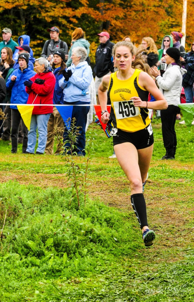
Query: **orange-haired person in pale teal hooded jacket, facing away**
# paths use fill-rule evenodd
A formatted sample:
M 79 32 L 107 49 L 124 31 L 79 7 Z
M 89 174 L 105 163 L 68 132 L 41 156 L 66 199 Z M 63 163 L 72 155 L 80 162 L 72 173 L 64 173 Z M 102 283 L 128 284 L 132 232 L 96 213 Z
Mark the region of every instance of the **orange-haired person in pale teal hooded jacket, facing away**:
M 84 31 L 82 30 L 81 27 L 78 27 L 75 29 L 75 31 L 72 32 L 72 46 L 69 50 L 68 53 L 68 60 L 66 62 L 66 66 L 69 67 L 72 64 L 72 51 L 75 47 L 84 47 L 87 51 L 87 58 L 86 58 L 86 62 L 88 63 L 88 65 L 90 65 L 90 58 L 89 58 L 89 52 L 90 52 L 90 43 L 84 39 Z M 65 57 L 65 59 L 67 59 Z

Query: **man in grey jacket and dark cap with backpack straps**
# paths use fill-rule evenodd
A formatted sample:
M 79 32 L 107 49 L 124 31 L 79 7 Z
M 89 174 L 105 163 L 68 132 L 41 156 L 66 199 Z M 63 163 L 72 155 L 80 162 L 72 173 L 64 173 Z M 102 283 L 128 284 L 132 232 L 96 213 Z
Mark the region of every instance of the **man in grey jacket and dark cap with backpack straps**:
M 50 32 L 51 40 L 46 40 L 44 43 L 41 56 L 50 62 L 52 60 L 52 55 L 56 50 L 63 49 L 65 55 L 68 55 L 67 43 L 59 39 L 59 28 L 52 26 L 51 28 L 48 28 L 47 31 Z

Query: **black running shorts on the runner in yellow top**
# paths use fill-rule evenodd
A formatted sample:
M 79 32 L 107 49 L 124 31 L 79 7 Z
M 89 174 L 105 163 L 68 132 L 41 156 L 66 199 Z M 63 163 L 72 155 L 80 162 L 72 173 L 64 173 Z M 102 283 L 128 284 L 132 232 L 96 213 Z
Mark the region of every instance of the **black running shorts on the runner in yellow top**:
M 145 129 L 126 132 L 117 128 L 112 130 L 113 146 L 122 143 L 132 143 L 136 149 L 144 149 L 154 143 L 154 135 L 151 124 Z

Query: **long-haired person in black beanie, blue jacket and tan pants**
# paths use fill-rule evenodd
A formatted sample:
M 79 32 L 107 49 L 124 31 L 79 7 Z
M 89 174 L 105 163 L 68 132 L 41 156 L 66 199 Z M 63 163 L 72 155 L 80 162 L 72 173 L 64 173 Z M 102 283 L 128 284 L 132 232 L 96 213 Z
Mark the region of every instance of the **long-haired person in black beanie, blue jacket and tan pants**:
M 54 70 L 53 73 L 56 78 L 54 94 L 53 94 L 53 104 L 56 105 L 63 104 L 64 102 L 63 89 L 59 86 L 59 80 L 62 79 L 63 77 L 62 71 L 66 69 L 64 60 L 65 60 L 65 51 L 63 49 L 56 50 L 53 53 L 52 69 Z M 52 132 L 57 127 L 64 128 L 64 122 L 56 106 L 53 106 L 53 112 L 51 113 L 47 124 L 47 132 L 48 133 Z M 63 132 L 64 130 L 61 132 L 61 136 L 63 136 Z M 46 148 L 45 148 L 45 153 L 47 155 L 53 154 L 53 146 L 54 146 L 54 138 L 52 139 L 47 138 Z M 57 149 L 55 154 L 59 154 L 61 150 L 59 149 L 58 145 L 56 147 Z

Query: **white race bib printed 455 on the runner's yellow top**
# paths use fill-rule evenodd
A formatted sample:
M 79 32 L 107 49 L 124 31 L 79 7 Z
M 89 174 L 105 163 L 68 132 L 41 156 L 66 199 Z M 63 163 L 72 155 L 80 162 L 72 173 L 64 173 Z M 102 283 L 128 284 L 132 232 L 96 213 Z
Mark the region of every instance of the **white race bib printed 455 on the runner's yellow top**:
M 135 107 L 133 100 L 113 102 L 116 118 L 135 117 L 140 114 L 139 107 Z

